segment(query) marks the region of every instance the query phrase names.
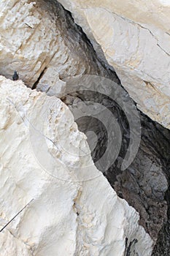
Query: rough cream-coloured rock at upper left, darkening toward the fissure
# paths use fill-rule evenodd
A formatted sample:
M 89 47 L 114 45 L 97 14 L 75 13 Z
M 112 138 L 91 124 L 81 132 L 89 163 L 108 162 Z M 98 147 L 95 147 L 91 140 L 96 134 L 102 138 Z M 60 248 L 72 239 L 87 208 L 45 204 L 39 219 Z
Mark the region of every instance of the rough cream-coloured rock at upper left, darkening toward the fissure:
M 17 70 L 26 85 L 39 84 L 39 89 L 70 75 L 106 75 L 81 29 L 58 2 L 7 0 L 0 2 L 0 10 L 1 75 L 12 78 Z

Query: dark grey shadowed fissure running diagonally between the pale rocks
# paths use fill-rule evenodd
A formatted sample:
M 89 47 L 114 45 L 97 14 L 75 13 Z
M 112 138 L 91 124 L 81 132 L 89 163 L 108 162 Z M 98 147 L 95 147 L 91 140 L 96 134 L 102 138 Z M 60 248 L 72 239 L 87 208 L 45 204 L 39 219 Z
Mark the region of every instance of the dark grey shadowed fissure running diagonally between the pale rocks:
M 40 1 L 40 0 L 39 0 Z M 82 56 L 82 59 L 88 59 L 89 70 L 85 74 L 102 75 L 114 80 L 120 84 L 116 73 L 109 69 L 109 64 L 102 63 L 90 41 L 80 28 L 74 23 L 72 15 L 63 9 L 61 4 L 55 0 L 42 1 L 48 4 L 50 12 L 54 10 L 54 17 L 60 17 L 56 20 L 56 25 L 61 27 L 64 40 L 68 47 L 74 48 L 74 53 Z M 55 6 L 55 8 L 53 8 Z M 80 45 L 86 42 L 86 46 Z M 72 45 L 72 46 L 71 46 Z M 84 55 L 83 52 L 88 52 Z M 76 58 L 76 56 L 75 56 Z M 73 74 L 76 75 L 76 74 Z M 121 86 L 121 85 L 120 85 Z M 125 90 L 124 90 L 125 91 Z M 73 97 L 74 98 L 74 97 Z M 123 135 L 123 143 L 120 148 L 120 154 L 117 157 L 114 165 L 104 173 L 111 186 L 117 192 L 117 195 L 127 200 L 130 206 L 133 206 L 139 212 L 139 224 L 144 227 L 147 233 L 150 234 L 155 241 L 155 247 L 152 256 L 169 256 L 170 255 L 170 189 L 169 189 L 169 168 L 170 168 L 170 131 L 161 127 L 160 124 L 152 121 L 147 116 L 139 111 L 139 116 L 142 124 L 142 140 L 139 147 L 139 152 L 128 169 L 121 171 L 120 166 L 127 151 L 130 131 L 125 113 L 116 102 L 104 95 L 91 93 L 87 91 L 85 94 L 80 94 L 79 99 L 96 101 L 104 104 L 117 119 Z M 66 99 L 63 99 L 63 101 Z M 123 101 L 131 100 L 127 97 L 127 92 L 122 97 Z M 87 120 L 81 118 L 77 120 L 78 127 L 82 132 L 93 130 L 98 138 L 96 148 L 92 152 L 94 162 L 104 154 L 107 147 L 107 132 L 104 126 L 95 118 Z M 112 152 L 111 152 L 112 154 Z M 98 166 L 102 171 L 102 167 Z M 135 255 L 134 244 L 137 241 L 126 241 L 125 256 Z

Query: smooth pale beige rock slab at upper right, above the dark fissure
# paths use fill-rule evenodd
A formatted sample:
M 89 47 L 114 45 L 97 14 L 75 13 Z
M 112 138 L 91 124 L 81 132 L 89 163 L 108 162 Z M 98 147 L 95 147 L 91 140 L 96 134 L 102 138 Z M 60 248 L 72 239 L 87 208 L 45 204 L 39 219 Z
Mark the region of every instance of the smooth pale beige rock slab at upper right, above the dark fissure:
M 170 129 L 170 1 L 59 1 L 138 108 Z

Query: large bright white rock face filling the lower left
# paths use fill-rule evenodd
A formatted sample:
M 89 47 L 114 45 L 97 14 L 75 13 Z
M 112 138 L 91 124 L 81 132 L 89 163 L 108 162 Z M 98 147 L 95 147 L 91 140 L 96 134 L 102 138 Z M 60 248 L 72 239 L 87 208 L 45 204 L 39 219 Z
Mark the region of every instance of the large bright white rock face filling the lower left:
M 151 255 L 139 214 L 93 165 L 60 99 L 0 76 L 0 119 L 1 228 L 34 199 L 0 233 L 1 256 L 123 256 L 126 237 Z

